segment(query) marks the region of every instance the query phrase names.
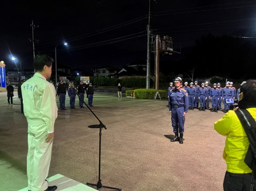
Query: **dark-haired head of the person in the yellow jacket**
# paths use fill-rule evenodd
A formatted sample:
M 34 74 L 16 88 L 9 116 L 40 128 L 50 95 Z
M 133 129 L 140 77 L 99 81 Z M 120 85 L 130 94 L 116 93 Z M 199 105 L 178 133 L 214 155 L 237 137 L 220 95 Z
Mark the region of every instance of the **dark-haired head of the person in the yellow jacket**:
M 243 99 L 256 104 L 256 80 L 247 80 L 240 88 L 243 92 Z

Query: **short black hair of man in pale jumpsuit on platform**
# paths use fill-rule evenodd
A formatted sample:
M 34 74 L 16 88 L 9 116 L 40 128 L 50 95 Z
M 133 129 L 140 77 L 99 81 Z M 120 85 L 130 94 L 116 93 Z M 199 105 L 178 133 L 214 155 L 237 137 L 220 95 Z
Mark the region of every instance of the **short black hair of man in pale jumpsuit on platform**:
M 42 71 L 44 66 L 50 67 L 54 60 L 47 55 L 36 55 L 33 61 L 33 67 L 35 71 Z

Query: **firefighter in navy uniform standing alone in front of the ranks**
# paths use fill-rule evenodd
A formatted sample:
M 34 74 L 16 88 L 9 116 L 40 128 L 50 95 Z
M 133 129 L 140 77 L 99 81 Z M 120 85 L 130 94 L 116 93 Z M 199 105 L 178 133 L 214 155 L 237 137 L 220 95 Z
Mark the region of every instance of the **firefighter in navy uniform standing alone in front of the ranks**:
M 180 77 L 175 78 L 174 84 L 175 88 L 170 90 L 168 94 L 169 111 L 175 133 L 175 138 L 170 141 L 179 141 L 180 144 L 183 144 L 185 116 L 188 111 L 188 93 L 184 88 L 181 88 L 182 79 Z

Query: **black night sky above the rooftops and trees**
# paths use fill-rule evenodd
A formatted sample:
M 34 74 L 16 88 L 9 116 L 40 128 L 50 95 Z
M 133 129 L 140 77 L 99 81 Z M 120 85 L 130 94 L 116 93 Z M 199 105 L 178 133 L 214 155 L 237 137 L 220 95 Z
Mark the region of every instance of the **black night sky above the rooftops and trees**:
M 76 3 L 77 2 L 77 3 Z M 10 55 L 32 68 L 31 23 L 34 21 L 35 54 L 48 54 L 57 64 L 90 70 L 95 66 L 121 67 L 145 60 L 148 0 L 3 1 L 0 12 L 0 60 L 14 67 Z M 153 34 L 174 39 L 182 59 L 184 50 L 202 35 L 255 37 L 256 1 L 151 0 Z M 253 41 L 254 39 L 249 39 Z M 61 45 L 68 42 L 68 47 Z M 152 55 L 152 60 L 154 55 Z

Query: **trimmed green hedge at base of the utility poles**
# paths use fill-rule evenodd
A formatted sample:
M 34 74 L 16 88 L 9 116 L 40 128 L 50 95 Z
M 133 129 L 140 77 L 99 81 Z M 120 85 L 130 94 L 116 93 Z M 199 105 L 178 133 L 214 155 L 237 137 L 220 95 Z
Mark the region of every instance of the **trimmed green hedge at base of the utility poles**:
M 141 99 L 154 99 L 157 90 L 156 89 L 135 89 L 135 90 L 126 90 L 125 95 L 131 96 L 131 93 L 133 91 L 135 98 L 141 98 Z M 167 98 L 167 91 L 166 90 L 158 90 L 161 99 Z

